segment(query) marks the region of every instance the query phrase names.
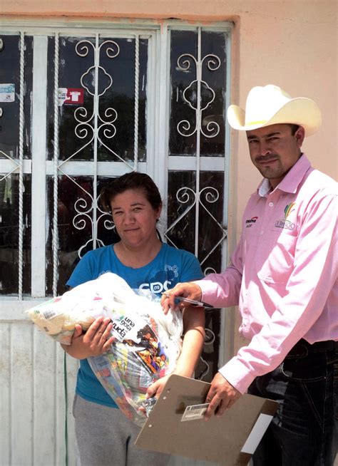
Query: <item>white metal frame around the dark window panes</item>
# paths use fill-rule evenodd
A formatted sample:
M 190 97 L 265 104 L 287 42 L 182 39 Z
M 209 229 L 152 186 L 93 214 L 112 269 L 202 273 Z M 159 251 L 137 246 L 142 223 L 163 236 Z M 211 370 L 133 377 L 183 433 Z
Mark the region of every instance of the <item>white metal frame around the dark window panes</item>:
M 32 301 L 45 299 L 46 293 L 46 209 L 41 209 L 41 198 L 46 204 L 46 176 L 55 176 L 55 164 L 46 157 L 46 88 L 47 76 L 47 48 L 48 36 L 56 31 L 62 35 L 93 36 L 98 31 L 101 36 L 135 38 L 135 34 L 149 38 L 148 46 L 148 100 L 147 100 L 147 161 L 138 163 L 138 170 L 147 172 L 158 185 L 163 200 L 168 198 L 168 171 L 195 170 L 195 157 L 168 157 L 168 121 L 170 118 L 170 31 L 180 29 L 196 31 L 200 27 L 203 31 L 224 32 L 227 35 L 226 55 L 227 88 L 225 93 L 226 108 L 230 103 L 230 63 L 232 49 L 232 27 L 230 22 L 215 22 L 208 26 L 204 24 L 188 24 L 179 20 L 137 20 L 114 19 L 103 21 L 79 21 L 67 19 L 65 21 L 51 19 L 5 19 L 1 24 L 1 35 L 21 33 L 34 36 L 34 64 L 33 64 L 33 90 L 32 90 L 32 122 L 31 122 L 31 160 L 22 160 L 22 173 L 31 174 L 32 212 L 31 212 L 31 296 L 0 296 L 1 320 L 21 320 L 24 309 L 28 309 Z M 131 32 L 133 31 L 133 32 Z M 163 98 L 165 96 L 165 98 Z M 71 175 L 81 175 L 81 165 L 93 162 L 68 162 L 66 172 Z M 212 170 L 224 172 L 225 202 L 223 202 L 223 224 L 227 228 L 227 211 L 229 202 L 230 180 L 230 129 L 225 125 L 225 157 L 200 157 L 199 170 Z M 1 161 L 1 172 L 6 171 L 11 162 Z M 123 162 L 98 162 L 98 174 L 122 174 Z M 163 227 L 166 229 L 167 206 L 163 206 Z M 41 247 L 41 245 L 43 247 Z M 228 256 L 228 242 L 222 247 L 222 269 L 225 269 Z M 16 305 L 14 306 L 14 301 Z M 223 313 L 222 313 L 223 314 Z M 24 319 L 26 319 L 24 317 Z M 221 334 L 224 334 L 225 318 L 221 318 Z M 222 338 L 221 338 L 222 346 Z M 224 348 L 220 348 L 220 356 Z

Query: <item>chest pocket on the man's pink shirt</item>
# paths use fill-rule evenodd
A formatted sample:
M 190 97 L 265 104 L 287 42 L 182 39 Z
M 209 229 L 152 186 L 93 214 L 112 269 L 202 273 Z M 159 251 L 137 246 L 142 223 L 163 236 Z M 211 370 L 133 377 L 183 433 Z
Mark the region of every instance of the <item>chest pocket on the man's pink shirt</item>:
M 257 276 L 267 284 L 287 284 L 295 266 L 297 232 L 287 229 L 271 229 L 269 237 L 257 249 Z

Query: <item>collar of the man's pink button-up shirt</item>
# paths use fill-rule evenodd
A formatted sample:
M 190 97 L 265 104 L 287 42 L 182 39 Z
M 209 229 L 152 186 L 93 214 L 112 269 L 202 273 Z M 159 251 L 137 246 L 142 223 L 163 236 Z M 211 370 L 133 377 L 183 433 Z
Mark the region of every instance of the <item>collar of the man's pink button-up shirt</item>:
M 311 164 L 305 154 L 297 160 L 295 165 L 287 172 L 287 175 L 282 179 L 279 185 L 275 188 L 285 192 L 295 193 L 299 183 L 304 178 L 307 170 L 311 168 Z M 271 191 L 271 185 L 267 178 L 264 178 L 257 188 L 257 192 L 261 197 L 265 197 Z

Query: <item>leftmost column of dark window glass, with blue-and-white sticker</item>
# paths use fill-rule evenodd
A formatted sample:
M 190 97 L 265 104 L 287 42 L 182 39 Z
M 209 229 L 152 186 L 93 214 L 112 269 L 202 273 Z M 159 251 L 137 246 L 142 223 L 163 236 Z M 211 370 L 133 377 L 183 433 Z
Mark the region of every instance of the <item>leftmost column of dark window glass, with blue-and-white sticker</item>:
M 21 69 L 21 36 L 2 35 L 0 51 L 0 294 L 31 293 L 31 175 L 23 175 L 23 248 L 19 252 L 19 157 L 31 158 L 31 90 L 33 38 L 24 36 Z M 20 125 L 20 92 L 23 79 L 23 115 Z M 21 167 L 24 170 L 24 167 Z M 21 267 L 22 266 L 22 267 Z

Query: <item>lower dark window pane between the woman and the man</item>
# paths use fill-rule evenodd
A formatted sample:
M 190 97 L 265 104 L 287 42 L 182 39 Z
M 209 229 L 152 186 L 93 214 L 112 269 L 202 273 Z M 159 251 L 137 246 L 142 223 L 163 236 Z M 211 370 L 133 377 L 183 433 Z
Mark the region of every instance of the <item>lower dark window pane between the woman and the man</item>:
M 196 192 L 196 175 L 192 171 L 168 174 L 168 243 L 195 252 L 195 212 L 198 204 L 198 258 L 205 274 L 222 269 L 222 210 L 224 174 L 200 172 L 200 191 Z M 199 199 L 199 201 L 198 201 Z M 181 218 L 180 218 L 181 217 Z M 177 220 L 180 219 L 178 222 Z M 195 371 L 197 378 L 211 381 L 217 372 L 220 347 L 220 310 L 205 314 L 205 346 Z

